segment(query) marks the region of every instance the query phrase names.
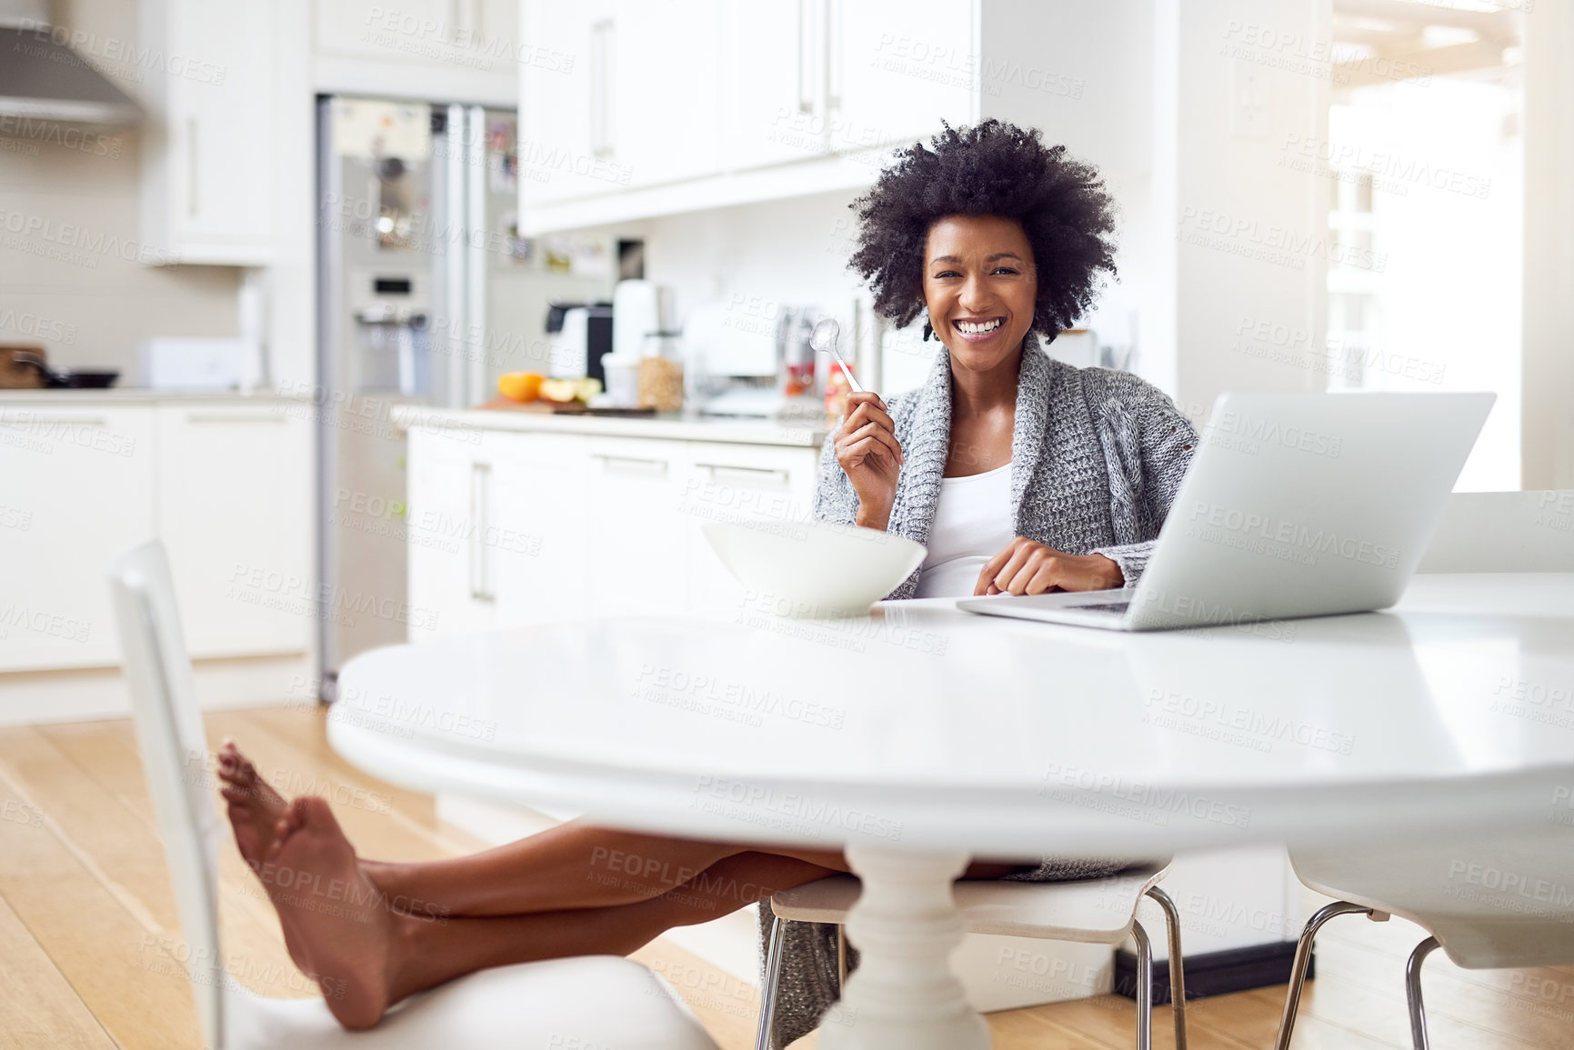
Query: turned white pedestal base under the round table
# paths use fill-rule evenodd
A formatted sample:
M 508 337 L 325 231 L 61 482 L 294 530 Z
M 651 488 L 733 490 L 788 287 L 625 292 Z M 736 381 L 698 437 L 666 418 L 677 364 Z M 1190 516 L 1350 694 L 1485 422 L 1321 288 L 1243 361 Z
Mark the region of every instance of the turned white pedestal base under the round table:
M 962 940 L 951 883 L 968 856 L 850 845 L 847 861 L 864 885 L 847 913 L 859 962 L 820 1026 L 822 1050 L 988 1050 L 949 959 Z

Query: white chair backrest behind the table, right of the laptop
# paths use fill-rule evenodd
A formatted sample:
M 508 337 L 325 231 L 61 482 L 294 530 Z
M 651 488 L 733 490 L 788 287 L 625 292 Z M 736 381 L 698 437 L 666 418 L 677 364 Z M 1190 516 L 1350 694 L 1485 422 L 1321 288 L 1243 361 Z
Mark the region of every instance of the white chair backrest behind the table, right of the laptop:
M 1454 493 L 1418 573 L 1574 573 L 1574 490 Z

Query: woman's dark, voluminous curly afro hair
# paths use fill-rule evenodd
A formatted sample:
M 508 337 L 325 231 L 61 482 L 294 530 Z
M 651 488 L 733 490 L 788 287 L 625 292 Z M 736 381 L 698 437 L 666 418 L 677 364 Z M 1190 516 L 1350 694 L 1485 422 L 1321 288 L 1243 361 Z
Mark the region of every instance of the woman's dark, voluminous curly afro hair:
M 1036 128 L 944 124 L 929 146 L 900 150 L 852 208 L 858 246 L 848 268 L 863 274 L 875 310 L 897 327 L 924 309 L 924 246 L 948 216 L 1022 225 L 1039 280 L 1029 335 L 1053 340 L 1092 305 L 1100 271 L 1114 275 L 1114 203 L 1099 170 L 1066 156 L 1066 146 L 1045 146 Z

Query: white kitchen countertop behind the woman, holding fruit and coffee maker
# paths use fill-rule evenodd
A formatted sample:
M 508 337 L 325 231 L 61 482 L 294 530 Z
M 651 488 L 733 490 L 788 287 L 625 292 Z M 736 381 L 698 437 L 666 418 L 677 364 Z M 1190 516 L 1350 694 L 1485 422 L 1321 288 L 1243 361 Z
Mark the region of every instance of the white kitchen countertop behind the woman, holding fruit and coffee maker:
M 829 433 L 820 422 L 774 423 L 765 419 L 733 419 L 667 412 L 660 416 L 554 416 L 551 412 L 508 409 L 450 409 L 401 405 L 392 419 L 411 428 L 519 430 L 604 438 L 663 438 L 667 441 L 722 441 L 730 444 L 789 446 L 818 449 Z

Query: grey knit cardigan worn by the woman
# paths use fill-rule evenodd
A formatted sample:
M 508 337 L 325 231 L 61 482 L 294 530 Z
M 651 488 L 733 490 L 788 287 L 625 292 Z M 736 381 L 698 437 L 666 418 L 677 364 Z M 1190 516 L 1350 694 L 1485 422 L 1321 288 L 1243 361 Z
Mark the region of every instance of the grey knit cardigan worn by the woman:
M 888 532 L 929 543 L 951 438 L 951 354 L 941 349 L 924 386 L 888 403 L 902 446 Z M 836 434 L 820 455 L 814 516 L 853 524 L 858 494 L 836 461 Z M 1133 584 L 1196 446 L 1190 420 L 1160 390 L 1127 372 L 1075 368 L 1040 351 L 1022 356 L 1017 423 L 1011 438 L 1011 513 L 1015 535 L 1069 554 L 1105 554 Z M 911 598 L 918 573 L 889 598 Z M 1111 875 L 1127 861 L 1044 858 L 1023 882 Z M 760 904 L 762 946 L 771 924 Z M 837 998 L 834 927 L 787 922 L 771 1045 L 811 1031 Z M 763 957 L 763 952 L 762 952 Z M 856 954 L 853 956 L 856 957 Z

